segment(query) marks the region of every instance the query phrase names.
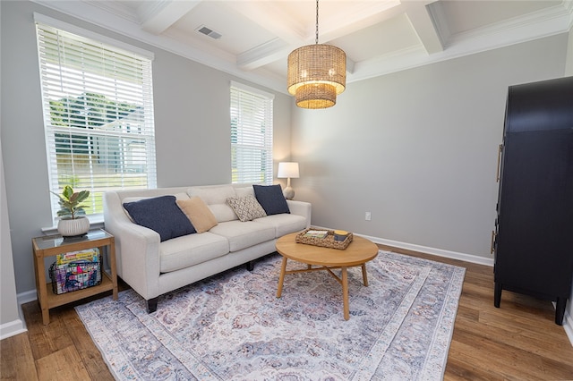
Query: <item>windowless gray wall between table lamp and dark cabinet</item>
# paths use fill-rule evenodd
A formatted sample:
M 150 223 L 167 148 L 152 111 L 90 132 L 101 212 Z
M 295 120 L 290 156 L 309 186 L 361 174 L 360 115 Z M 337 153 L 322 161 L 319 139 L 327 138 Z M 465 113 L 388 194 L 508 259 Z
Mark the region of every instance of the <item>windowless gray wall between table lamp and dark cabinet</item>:
M 312 224 L 492 258 L 508 86 L 562 77 L 567 42 L 561 34 L 350 83 L 326 110 L 293 107 L 293 187 L 312 202 Z

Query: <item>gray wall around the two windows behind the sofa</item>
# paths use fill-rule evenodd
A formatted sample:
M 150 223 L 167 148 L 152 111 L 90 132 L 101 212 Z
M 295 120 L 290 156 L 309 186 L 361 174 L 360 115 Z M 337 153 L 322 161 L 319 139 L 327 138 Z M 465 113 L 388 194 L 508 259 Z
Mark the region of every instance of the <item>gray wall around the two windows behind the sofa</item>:
M 244 80 L 38 4 L 2 1 L 0 6 L 2 150 L 17 292 L 35 290 L 30 239 L 42 235 L 41 229 L 53 224 L 47 191 L 46 144 L 33 12 L 155 54 L 153 91 L 159 187 L 231 182 L 229 82 Z M 290 97 L 276 94 L 274 145 L 280 156 L 289 155 L 290 104 Z

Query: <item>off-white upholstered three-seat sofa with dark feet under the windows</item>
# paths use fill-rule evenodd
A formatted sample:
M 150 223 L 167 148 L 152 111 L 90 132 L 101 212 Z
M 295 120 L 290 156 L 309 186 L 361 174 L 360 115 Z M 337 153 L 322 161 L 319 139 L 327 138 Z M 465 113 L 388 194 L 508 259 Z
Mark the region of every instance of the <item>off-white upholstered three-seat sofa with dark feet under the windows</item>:
M 159 233 L 135 224 L 124 202 L 174 195 L 176 199 L 201 198 L 217 219 L 204 233 L 192 233 L 161 241 Z M 228 198 L 254 196 L 252 185 L 224 184 L 155 190 L 118 190 L 104 194 L 104 222 L 115 236 L 117 274 L 146 301 L 149 312 L 157 309 L 158 297 L 210 275 L 247 264 L 276 250 L 275 242 L 287 233 L 311 224 L 311 204 L 286 200 L 290 213 L 241 222 Z

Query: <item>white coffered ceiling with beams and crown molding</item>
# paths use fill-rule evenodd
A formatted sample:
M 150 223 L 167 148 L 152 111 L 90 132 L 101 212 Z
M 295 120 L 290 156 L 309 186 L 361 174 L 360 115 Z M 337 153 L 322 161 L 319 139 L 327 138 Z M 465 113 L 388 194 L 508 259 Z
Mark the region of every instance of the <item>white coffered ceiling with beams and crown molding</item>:
M 314 44 L 314 0 L 35 0 L 286 92 L 286 57 Z M 321 0 L 319 43 L 347 55 L 347 83 L 567 32 L 572 0 Z M 202 32 L 201 32 L 202 31 Z

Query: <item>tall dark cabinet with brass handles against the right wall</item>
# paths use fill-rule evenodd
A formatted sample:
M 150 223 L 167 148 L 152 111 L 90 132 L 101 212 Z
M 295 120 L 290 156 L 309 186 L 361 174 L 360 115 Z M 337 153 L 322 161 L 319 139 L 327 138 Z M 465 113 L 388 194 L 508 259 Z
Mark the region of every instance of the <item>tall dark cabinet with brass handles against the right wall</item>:
M 573 282 L 573 77 L 509 87 L 495 235 L 501 292 L 556 301 L 562 325 Z

